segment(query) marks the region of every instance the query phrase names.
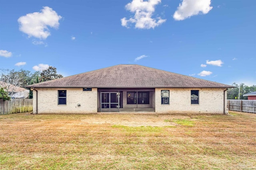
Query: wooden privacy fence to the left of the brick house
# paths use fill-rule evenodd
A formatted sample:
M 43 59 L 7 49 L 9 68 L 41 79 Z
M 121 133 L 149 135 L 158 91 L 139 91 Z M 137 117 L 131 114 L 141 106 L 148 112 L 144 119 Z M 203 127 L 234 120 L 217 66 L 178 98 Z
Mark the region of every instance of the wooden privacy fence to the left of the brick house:
M 33 110 L 33 99 L 0 99 L 0 115 L 23 113 Z

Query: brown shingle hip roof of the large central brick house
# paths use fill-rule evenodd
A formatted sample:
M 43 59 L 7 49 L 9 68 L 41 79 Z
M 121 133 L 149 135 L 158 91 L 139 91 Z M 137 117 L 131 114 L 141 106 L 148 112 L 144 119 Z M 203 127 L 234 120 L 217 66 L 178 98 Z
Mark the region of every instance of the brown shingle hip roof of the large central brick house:
M 26 88 L 234 88 L 137 64 L 120 64 L 25 86 Z

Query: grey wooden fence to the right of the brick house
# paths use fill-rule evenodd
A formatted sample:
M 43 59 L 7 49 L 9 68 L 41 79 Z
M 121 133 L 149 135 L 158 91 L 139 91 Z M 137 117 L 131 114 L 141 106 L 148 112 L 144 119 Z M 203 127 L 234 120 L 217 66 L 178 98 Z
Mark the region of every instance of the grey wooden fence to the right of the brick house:
M 227 100 L 228 110 L 256 113 L 256 100 Z

